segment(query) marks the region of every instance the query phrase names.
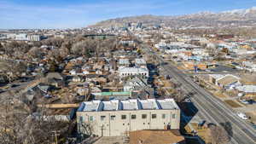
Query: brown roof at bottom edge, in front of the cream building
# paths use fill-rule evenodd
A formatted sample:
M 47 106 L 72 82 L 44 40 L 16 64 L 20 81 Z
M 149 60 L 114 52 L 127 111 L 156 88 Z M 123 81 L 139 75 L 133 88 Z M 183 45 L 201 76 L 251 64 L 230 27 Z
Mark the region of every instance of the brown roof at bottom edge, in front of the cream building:
M 184 142 L 178 130 L 137 130 L 130 132 L 130 144 L 170 144 Z

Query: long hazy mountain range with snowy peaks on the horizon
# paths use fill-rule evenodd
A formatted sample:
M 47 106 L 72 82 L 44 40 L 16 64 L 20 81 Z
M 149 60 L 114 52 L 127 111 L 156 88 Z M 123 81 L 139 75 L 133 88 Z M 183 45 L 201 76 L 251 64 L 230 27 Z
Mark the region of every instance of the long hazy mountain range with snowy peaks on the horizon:
M 171 27 L 241 27 L 255 26 L 256 7 L 251 9 L 234 9 L 219 13 L 201 12 L 176 16 L 139 15 L 110 20 L 103 20 L 92 27 L 125 26 L 127 23 L 143 23 L 143 26 L 166 25 Z

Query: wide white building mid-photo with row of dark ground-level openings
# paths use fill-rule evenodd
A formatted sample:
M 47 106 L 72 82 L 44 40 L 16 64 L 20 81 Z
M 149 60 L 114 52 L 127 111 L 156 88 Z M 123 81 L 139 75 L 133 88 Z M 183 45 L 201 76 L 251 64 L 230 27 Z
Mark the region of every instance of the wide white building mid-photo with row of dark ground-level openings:
M 147 67 L 119 67 L 119 77 L 125 78 L 127 76 L 145 76 L 148 78 Z

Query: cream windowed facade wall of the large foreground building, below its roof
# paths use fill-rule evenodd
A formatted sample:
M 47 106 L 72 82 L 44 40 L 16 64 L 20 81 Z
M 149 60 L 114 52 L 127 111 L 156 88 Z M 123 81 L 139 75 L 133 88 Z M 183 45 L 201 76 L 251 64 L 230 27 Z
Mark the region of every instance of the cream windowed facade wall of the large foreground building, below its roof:
M 143 114 L 147 118 L 142 118 Z M 152 114 L 156 114 L 156 118 L 152 118 Z M 162 118 L 163 114 L 165 118 Z M 122 115 L 126 115 L 126 118 L 122 119 Z M 132 119 L 132 115 L 136 115 L 136 118 Z M 102 116 L 105 118 L 102 119 Z M 165 130 L 168 124 L 171 130 L 178 130 L 180 110 L 77 112 L 77 122 L 78 131 L 85 135 L 117 136 L 133 130 Z M 89 125 L 87 131 L 82 124 Z

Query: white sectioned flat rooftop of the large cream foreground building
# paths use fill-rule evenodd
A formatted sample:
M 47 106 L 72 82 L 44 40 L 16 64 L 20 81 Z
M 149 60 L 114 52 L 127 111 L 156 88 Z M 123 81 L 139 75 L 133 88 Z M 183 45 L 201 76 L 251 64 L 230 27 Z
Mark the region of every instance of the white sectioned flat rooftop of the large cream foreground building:
M 164 100 L 139 100 L 125 101 L 84 101 L 79 107 L 79 112 L 125 111 L 125 110 L 172 110 L 179 109 L 173 99 Z

